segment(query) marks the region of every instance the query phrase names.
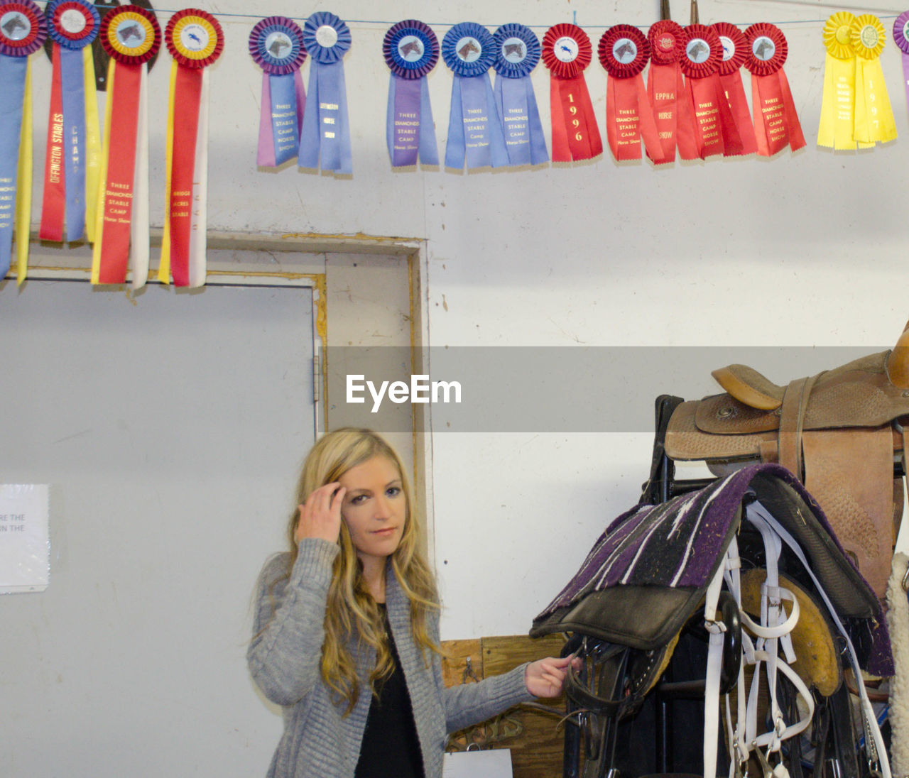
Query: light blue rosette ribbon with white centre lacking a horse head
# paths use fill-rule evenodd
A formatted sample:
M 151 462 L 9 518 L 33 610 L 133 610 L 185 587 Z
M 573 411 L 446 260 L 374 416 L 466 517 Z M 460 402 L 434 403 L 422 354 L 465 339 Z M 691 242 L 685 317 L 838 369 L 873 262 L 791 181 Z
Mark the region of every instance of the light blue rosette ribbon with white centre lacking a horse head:
M 350 155 L 350 121 L 344 81 L 344 55 L 350 48 L 350 30 L 334 14 L 319 11 L 306 19 L 303 42 L 311 58 L 310 109 L 300 134 L 300 167 L 354 172 Z

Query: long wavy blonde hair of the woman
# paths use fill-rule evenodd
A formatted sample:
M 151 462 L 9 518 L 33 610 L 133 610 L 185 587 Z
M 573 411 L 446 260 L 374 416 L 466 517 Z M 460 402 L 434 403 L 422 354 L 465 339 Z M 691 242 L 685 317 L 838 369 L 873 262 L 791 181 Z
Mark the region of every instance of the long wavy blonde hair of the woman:
M 440 653 L 438 644 L 433 642 L 426 630 L 427 613 L 439 608 L 435 579 L 420 545 L 414 495 L 404 464 L 395 449 L 372 430 L 345 427 L 325 434 L 306 456 L 296 488 L 295 504 L 304 504 L 306 498 L 320 486 L 337 481 L 351 468 L 375 456 L 385 457 L 395 464 L 405 494 L 404 531 L 401 542 L 391 555 L 391 566 L 398 584 L 410 601 L 411 631 L 415 643 L 425 656 L 430 651 Z M 287 526 L 291 547 L 288 574 L 296 561 L 295 532 L 298 519 L 299 512 L 295 509 Z M 341 553 L 335 558 L 332 582 L 328 587 L 325 643 L 322 645 L 320 669 L 325 683 L 342 700 L 346 700 L 346 714 L 354 709 L 360 695 L 354 658 L 347 650 L 350 637 L 356 634 L 361 642 L 375 648 L 375 668 L 369 676 L 370 689 L 374 694 L 375 683 L 392 672 L 394 659 L 385 637 L 385 623 L 375 599 L 366 588 L 363 565 L 357 558 L 344 521 L 341 522 L 338 544 Z

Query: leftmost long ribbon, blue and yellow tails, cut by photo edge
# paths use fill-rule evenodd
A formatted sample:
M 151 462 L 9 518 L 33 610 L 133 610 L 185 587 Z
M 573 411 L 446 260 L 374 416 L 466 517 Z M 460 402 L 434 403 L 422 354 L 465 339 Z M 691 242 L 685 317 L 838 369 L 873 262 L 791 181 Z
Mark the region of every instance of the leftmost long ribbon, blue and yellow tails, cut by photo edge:
M 31 0 L 0 5 L 0 280 L 15 229 L 16 283 L 25 281 L 32 211 L 32 85 L 28 56 L 45 42 L 45 16 Z

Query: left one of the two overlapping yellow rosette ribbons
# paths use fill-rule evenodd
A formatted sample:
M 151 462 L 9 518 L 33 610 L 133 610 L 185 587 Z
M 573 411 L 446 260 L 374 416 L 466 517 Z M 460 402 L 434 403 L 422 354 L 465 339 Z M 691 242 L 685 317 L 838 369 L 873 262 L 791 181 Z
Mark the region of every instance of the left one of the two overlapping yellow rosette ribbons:
M 855 49 L 850 32 L 854 21 L 854 15 L 841 11 L 824 24 L 824 94 L 817 145 L 828 148 L 855 148 Z

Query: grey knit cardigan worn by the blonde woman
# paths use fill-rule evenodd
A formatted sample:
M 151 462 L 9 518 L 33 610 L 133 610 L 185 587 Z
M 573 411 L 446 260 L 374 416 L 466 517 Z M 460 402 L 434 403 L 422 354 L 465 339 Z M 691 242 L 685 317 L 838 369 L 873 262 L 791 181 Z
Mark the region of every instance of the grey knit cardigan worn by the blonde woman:
M 259 576 L 254 637 L 246 659 L 265 696 L 285 706 L 284 734 L 268 778 L 353 778 L 356 769 L 372 701 L 368 690 L 375 650 L 358 645 L 355 639 L 348 645 L 357 664 L 361 693 L 346 716 L 345 703 L 337 701 L 319 672 L 328 584 L 338 552 L 336 544 L 306 539 L 299 545 L 289 579 L 285 577 L 288 554 L 269 559 Z M 414 641 L 409 602 L 390 569 L 385 597 L 388 623 L 414 709 L 425 778 L 441 778 L 447 733 L 533 699 L 524 684 L 526 665 L 482 683 L 446 689 L 438 655 L 433 653 L 426 663 Z M 437 641 L 435 613 L 427 627 Z

